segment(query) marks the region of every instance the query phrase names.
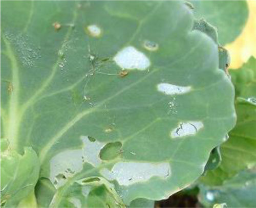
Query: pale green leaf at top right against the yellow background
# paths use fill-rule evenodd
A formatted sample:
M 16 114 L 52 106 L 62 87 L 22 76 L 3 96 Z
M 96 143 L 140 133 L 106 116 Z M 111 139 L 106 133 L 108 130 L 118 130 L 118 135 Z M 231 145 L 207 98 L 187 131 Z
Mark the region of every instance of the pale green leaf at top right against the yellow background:
M 222 45 L 236 39 L 248 18 L 246 1 L 193 1 L 191 4 L 198 19 L 204 18 L 217 28 Z

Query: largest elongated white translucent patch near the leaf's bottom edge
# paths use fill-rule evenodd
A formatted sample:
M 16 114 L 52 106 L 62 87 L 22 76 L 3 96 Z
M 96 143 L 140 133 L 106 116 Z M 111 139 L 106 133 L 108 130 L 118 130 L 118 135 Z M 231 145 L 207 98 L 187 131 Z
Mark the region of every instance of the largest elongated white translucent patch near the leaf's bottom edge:
M 166 178 L 170 176 L 169 163 L 151 164 L 135 162 L 119 162 L 111 171 L 104 168 L 101 174 L 109 180 L 117 180 L 121 186 L 129 186 L 136 182 L 143 182 L 153 176 Z

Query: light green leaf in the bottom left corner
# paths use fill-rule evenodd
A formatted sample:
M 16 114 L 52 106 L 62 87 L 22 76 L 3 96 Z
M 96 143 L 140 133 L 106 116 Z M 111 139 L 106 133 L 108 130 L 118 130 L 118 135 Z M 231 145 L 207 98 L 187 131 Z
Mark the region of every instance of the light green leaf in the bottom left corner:
M 2 138 L 1 148 L 7 143 Z M 33 194 L 39 167 L 39 159 L 32 148 L 26 147 L 23 155 L 9 147 L 1 150 L 1 207 L 15 207 Z M 20 207 L 23 205 L 24 202 Z

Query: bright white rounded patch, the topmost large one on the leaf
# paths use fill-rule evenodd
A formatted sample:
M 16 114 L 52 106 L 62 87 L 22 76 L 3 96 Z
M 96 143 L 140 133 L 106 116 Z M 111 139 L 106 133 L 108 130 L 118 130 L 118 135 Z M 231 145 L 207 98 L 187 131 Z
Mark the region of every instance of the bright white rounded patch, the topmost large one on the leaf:
M 140 51 L 132 46 L 126 47 L 119 51 L 115 57 L 114 61 L 121 68 L 127 70 L 145 70 L 150 66 L 150 60 Z

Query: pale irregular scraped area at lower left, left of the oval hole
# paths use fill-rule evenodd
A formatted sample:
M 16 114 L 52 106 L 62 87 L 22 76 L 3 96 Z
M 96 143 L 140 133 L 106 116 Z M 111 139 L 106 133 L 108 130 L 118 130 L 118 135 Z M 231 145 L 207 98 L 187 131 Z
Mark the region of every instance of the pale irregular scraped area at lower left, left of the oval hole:
M 95 167 L 101 163 L 99 152 L 105 143 L 91 142 L 88 136 L 81 136 L 81 140 L 81 149 L 60 152 L 50 160 L 50 180 L 55 188 L 63 186 L 67 178 L 80 172 L 83 163 L 90 163 Z

